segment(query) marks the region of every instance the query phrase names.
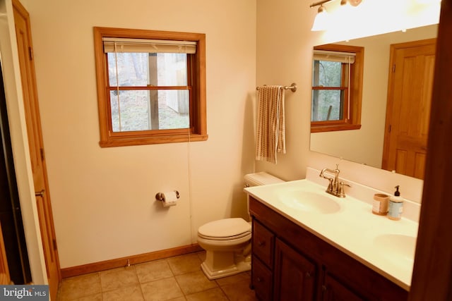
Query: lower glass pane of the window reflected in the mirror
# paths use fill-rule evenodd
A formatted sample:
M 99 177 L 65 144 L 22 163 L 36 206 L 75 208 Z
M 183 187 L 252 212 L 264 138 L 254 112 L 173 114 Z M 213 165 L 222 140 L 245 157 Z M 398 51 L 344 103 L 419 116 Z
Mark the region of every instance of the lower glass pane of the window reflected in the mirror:
M 312 99 L 311 121 L 343 119 L 342 90 L 313 90 Z

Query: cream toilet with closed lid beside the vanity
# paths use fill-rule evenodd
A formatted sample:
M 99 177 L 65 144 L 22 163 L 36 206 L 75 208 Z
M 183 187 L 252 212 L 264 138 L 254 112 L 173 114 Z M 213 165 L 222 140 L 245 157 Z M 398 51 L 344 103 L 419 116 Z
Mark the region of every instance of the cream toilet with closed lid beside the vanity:
M 269 173 L 245 175 L 245 186 L 284 182 Z M 251 269 L 251 222 L 242 218 L 210 221 L 198 228 L 198 245 L 206 250 L 201 269 L 210 280 Z

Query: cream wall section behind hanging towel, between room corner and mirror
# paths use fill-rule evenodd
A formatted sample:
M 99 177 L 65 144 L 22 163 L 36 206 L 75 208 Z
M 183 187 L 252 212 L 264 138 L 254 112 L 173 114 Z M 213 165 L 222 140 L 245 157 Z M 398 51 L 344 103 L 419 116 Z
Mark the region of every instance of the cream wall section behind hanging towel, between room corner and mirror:
M 285 92 L 286 154 L 278 164 L 256 163 L 284 180 L 304 178 L 309 154 L 311 107 L 311 57 L 314 37 L 310 31 L 313 13 L 306 1 L 259 0 L 257 7 L 257 85 L 290 85 Z

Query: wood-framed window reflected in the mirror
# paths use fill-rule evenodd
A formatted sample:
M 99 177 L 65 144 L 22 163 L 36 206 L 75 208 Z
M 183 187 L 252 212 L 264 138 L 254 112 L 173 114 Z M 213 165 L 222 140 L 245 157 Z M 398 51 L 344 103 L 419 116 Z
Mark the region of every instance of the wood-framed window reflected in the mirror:
M 314 47 L 311 133 L 361 128 L 363 47 Z

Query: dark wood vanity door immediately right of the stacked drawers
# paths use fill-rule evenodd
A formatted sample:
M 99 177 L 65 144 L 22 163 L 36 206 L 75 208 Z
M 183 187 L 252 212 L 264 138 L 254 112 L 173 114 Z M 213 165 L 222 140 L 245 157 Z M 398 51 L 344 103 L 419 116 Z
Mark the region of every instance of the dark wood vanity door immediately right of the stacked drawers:
M 316 265 L 278 238 L 273 279 L 274 300 L 314 300 Z

